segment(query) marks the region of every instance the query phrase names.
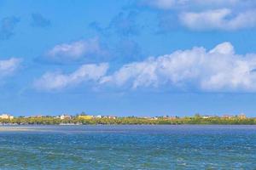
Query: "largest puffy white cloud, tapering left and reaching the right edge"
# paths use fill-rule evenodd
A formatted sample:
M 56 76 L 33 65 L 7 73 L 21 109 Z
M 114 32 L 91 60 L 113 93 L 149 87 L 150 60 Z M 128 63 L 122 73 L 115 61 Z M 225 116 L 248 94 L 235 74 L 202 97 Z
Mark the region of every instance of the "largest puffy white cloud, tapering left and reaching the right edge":
M 204 91 L 256 91 L 256 54 L 235 54 L 230 42 L 212 50 L 192 48 L 122 66 L 102 84 L 194 87 Z

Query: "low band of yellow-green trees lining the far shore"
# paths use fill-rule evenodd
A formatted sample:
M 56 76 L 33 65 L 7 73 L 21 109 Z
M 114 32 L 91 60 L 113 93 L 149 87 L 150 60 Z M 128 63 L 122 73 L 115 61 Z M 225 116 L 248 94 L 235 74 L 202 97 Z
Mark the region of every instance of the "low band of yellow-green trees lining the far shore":
M 61 119 L 54 116 L 42 117 L 15 117 L 13 119 L 0 119 L 2 124 L 32 124 L 32 125 L 58 125 L 58 124 L 243 124 L 256 125 L 256 118 L 246 116 L 184 116 L 184 117 L 92 117 L 73 116 Z

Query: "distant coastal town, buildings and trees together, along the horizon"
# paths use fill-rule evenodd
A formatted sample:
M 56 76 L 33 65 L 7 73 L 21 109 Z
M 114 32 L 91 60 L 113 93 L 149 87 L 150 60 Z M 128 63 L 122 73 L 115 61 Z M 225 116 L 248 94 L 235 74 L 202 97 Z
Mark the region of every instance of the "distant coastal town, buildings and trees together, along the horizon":
M 256 117 L 236 116 L 91 116 L 82 112 L 76 116 L 12 116 L 0 115 L 2 125 L 87 125 L 87 124 L 256 124 Z

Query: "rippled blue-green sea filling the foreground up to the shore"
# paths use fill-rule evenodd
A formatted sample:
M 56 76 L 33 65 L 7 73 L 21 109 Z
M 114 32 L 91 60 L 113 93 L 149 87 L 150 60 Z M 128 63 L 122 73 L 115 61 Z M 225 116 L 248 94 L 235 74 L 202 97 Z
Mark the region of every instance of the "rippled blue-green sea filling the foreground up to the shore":
M 256 126 L 3 126 L 0 169 L 256 169 Z

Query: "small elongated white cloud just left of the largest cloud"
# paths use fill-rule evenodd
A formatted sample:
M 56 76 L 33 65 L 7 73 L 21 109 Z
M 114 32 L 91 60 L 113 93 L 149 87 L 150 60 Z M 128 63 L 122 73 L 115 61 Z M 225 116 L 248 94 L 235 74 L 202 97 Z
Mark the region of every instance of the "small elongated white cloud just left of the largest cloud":
M 36 82 L 35 88 L 42 90 L 58 90 L 69 86 L 77 85 L 81 82 L 97 82 L 108 71 L 108 64 L 82 65 L 77 71 L 70 74 L 61 72 L 47 72 Z

